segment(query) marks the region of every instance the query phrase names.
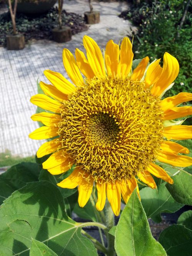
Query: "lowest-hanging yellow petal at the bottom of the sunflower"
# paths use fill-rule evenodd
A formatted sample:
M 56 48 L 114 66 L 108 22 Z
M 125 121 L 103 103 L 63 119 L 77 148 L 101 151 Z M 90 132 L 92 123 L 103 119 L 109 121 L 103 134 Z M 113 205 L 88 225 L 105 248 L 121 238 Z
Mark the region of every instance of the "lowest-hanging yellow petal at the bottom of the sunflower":
M 118 216 L 121 209 L 121 190 L 118 183 L 107 184 L 107 197 L 114 214 Z

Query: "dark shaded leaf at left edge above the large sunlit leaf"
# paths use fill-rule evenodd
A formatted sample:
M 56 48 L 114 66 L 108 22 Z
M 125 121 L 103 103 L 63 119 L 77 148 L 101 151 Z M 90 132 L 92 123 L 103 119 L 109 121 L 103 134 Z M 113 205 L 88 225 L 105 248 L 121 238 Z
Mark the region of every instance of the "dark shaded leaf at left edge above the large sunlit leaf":
M 0 204 L 15 190 L 22 188 L 27 182 L 38 181 L 39 167 L 36 163 L 20 163 L 13 165 L 0 175 Z

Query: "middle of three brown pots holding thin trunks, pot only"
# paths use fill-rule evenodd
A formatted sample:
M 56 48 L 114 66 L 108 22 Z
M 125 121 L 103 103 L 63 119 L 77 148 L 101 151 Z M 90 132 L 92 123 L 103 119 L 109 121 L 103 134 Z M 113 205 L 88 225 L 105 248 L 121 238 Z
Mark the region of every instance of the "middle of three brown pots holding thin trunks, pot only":
M 65 43 L 71 40 L 71 28 L 70 27 L 62 27 L 60 28 L 53 28 L 52 29 L 53 40 L 58 43 Z

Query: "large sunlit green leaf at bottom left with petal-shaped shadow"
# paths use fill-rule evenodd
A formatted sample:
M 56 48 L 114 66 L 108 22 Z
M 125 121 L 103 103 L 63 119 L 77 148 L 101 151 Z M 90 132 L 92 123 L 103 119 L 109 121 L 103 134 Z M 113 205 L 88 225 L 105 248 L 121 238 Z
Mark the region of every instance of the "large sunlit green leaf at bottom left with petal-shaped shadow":
M 28 183 L 0 208 L 0 255 L 27 256 L 31 239 L 60 256 L 96 256 L 93 243 L 65 212 L 59 189 L 48 181 Z

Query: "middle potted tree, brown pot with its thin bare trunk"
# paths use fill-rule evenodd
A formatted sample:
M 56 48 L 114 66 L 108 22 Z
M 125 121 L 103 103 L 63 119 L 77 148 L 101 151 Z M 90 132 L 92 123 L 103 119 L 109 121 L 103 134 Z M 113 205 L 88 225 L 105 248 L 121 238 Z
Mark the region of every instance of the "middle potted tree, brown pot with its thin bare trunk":
M 58 0 L 58 27 L 52 29 L 53 40 L 58 43 L 65 43 L 71 40 L 71 28 L 62 26 L 63 0 Z

